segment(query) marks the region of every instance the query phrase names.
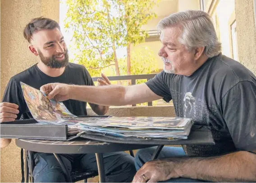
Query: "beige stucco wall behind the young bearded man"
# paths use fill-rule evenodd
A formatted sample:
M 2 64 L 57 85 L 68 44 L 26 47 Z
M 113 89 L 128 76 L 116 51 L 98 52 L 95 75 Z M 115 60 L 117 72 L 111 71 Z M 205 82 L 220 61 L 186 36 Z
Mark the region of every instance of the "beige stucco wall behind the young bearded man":
M 1 0 L 0 66 L 2 99 L 10 77 L 37 62 L 27 48 L 23 28 L 39 16 L 59 21 L 59 0 Z M 20 148 L 14 141 L 1 149 L 0 182 L 20 182 Z

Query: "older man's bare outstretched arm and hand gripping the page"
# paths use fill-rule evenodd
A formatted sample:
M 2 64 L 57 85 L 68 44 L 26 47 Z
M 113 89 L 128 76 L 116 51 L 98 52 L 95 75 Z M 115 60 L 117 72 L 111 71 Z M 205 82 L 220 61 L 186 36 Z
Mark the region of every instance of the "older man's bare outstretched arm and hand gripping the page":
M 145 83 L 132 86 L 107 85 L 101 87 L 50 83 L 43 85 L 41 91 L 48 94 L 48 98 L 55 98 L 57 101 L 74 99 L 105 106 L 144 103 L 162 98 L 152 92 Z

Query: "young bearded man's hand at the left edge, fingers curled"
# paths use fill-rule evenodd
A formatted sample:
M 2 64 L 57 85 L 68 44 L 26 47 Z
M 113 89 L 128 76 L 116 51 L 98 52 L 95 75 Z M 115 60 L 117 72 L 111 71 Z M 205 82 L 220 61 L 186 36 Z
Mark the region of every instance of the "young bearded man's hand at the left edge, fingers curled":
M 0 118 L 2 122 L 14 121 L 17 118 L 18 105 L 15 103 L 0 103 Z

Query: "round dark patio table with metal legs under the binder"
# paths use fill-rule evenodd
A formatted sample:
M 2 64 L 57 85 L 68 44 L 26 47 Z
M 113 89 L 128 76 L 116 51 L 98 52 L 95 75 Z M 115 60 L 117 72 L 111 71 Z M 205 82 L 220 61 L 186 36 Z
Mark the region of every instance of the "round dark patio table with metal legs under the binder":
M 105 182 L 105 170 L 102 153 L 105 152 L 119 152 L 130 151 L 134 149 L 142 149 L 152 147 L 155 145 L 142 145 L 142 144 L 126 144 L 126 143 L 106 143 L 85 138 L 78 138 L 73 141 L 54 141 L 54 140 L 34 140 L 34 139 L 16 139 L 16 145 L 27 151 L 53 153 L 59 162 L 61 168 L 66 174 L 69 182 L 72 182 L 70 174 L 66 166 L 62 162 L 58 154 L 88 154 L 95 153 L 99 181 Z M 34 167 L 31 167 L 30 171 Z

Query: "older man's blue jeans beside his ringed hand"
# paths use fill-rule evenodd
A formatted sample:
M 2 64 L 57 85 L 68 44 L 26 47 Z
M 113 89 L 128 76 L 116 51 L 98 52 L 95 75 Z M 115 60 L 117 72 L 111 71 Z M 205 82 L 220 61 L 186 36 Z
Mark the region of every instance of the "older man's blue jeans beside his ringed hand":
M 135 156 L 135 167 L 139 170 L 147 161 L 151 160 L 156 147 L 140 149 Z M 158 158 L 187 156 L 182 147 L 163 147 Z M 163 183 L 202 183 L 206 182 L 197 179 L 177 178 L 162 181 Z

